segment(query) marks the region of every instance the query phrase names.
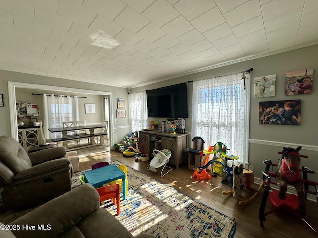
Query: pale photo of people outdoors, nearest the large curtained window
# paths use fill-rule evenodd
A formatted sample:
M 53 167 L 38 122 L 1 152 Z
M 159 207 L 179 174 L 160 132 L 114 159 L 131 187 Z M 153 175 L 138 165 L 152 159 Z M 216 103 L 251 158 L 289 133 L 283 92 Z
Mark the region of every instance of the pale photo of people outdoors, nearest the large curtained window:
M 255 77 L 254 98 L 275 96 L 276 74 Z

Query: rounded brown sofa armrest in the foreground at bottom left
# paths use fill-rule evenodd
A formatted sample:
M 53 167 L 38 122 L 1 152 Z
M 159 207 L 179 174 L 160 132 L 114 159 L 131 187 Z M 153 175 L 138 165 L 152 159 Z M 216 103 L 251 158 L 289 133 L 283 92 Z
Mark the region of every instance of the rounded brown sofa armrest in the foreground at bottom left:
M 17 238 L 56 238 L 70 230 L 83 218 L 99 208 L 99 194 L 96 189 L 85 183 L 79 187 L 45 203 L 10 224 L 35 226 L 50 225 L 49 230 L 14 230 Z

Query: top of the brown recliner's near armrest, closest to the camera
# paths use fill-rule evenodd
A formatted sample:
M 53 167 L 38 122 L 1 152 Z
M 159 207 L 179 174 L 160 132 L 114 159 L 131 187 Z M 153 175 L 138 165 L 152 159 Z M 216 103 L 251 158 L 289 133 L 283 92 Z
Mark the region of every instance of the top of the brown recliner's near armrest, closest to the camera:
M 52 173 L 70 169 L 70 159 L 61 158 L 35 165 L 29 169 L 22 170 L 14 176 L 14 182 L 24 179 L 40 178 Z

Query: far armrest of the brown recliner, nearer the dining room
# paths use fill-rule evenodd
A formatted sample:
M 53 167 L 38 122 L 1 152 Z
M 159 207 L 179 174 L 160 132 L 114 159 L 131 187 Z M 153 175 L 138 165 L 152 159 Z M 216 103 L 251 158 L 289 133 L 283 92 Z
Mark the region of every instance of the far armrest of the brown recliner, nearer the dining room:
M 66 148 L 63 146 L 53 147 L 40 151 L 33 152 L 29 155 L 32 165 L 38 165 L 46 161 L 54 160 L 57 158 L 65 157 Z

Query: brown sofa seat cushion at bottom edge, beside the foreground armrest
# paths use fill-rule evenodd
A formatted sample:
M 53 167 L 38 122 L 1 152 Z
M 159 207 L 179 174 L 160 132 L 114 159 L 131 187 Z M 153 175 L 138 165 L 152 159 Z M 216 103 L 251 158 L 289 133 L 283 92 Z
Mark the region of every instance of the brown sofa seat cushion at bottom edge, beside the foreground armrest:
M 133 235 L 104 208 L 85 217 L 78 224 L 80 231 L 86 238 L 111 237 L 133 238 Z

